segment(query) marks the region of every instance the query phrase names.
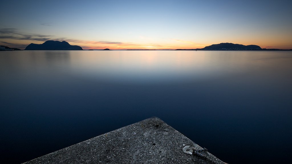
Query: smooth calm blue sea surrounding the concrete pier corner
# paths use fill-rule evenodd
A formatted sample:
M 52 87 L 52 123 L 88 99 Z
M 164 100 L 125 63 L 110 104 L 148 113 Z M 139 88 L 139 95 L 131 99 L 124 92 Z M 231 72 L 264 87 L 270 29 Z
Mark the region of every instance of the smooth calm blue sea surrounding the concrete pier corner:
M 157 116 L 227 163 L 290 163 L 291 51 L 0 51 L 0 163 Z

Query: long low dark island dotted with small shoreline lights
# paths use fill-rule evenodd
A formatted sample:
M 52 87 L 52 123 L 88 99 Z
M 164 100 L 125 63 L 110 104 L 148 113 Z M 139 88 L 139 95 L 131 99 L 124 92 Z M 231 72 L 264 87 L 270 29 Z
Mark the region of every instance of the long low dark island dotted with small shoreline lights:
M 212 44 L 211 46 L 206 46 L 204 48 L 197 49 L 176 49 L 176 50 L 216 50 L 216 51 L 228 51 L 228 50 L 281 50 L 281 49 L 266 49 L 260 48 L 257 45 L 248 45 L 244 46 L 242 44 L 234 44 L 234 43 L 220 43 L 220 44 Z

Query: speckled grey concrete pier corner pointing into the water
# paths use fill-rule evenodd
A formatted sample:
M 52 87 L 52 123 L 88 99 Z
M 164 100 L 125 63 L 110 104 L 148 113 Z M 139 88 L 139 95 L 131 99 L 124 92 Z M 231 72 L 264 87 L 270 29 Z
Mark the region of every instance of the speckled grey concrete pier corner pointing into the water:
M 207 158 L 184 153 L 182 149 L 187 145 L 201 149 L 199 145 L 164 123 L 161 119 L 152 117 L 30 160 L 25 164 L 224 164 L 206 151 L 201 152 L 201 154 L 207 156 Z

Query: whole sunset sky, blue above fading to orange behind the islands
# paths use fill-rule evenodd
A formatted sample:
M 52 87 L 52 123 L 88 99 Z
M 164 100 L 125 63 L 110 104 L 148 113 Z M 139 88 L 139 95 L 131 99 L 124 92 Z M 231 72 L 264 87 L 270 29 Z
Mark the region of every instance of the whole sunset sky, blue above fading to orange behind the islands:
M 292 49 L 292 1 L 2 0 L 0 45 L 191 49 L 218 43 Z

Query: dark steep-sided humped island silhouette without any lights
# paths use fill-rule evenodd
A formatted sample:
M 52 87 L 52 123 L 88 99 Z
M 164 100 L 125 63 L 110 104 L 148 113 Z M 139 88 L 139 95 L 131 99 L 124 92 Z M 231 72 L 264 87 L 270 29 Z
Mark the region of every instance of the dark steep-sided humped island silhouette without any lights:
M 24 50 L 83 50 L 80 46 L 72 46 L 66 41 L 46 41 L 43 44 L 30 43 Z

